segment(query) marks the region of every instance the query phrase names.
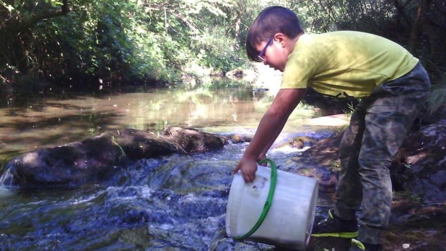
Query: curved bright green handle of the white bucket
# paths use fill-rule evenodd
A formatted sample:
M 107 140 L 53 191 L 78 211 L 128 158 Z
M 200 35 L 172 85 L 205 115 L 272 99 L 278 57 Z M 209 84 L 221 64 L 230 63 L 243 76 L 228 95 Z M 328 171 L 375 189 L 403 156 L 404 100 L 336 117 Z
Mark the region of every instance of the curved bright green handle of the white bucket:
M 247 238 L 251 236 L 251 234 L 253 234 L 255 231 L 257 231 L 257 229 L 262 225 L 263 221 L 267 217 L 268 211 L 270 210 L 271 204 L 273 203 L 274 191 L 276 190 L 276 181 L 277 181 L 277 166 L 276 163 L 274 163 L 274 161 L 271 159 L 263 159 L 259 161 L 258 164 L 262 164 L 265 162 L 267 162 L 271 166 L 271 184 L 267 200 L 265 201 L 265 205 L 263 206 L 262 214 L 260 214 L 260 218 L 258 218 L 257 222 L 251 228 L 251 230 L 249 230 L 246 234 L 242 236 L 234 237 L 233 238 L 234 240 Z

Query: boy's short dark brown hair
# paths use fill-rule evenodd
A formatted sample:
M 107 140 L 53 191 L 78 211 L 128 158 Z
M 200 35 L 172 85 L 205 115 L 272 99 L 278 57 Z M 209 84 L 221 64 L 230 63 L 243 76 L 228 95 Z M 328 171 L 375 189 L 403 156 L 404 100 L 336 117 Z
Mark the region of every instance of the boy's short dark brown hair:
M 282 32 L 287 37 L 294 39 L 304 31 L 298 17 L 291 10 L 280 6 L 265 8 L 255 18 L 246 36 L 246 53 L 249 59 L 260 61 L 255 46 L 262 41 L 267 41 L 277 32 Z

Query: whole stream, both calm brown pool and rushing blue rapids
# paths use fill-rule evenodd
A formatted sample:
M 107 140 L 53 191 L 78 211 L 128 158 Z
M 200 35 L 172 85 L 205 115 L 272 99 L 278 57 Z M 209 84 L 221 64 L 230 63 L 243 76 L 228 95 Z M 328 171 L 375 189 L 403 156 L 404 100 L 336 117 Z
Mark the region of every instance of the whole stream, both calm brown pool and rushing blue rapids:
M 218 86 L 218 85 L 217 85 Z M 229 88 L 228 88 L 229 87 Z M 212 133 L 252 134 L 274 94 L 225 88 L 148 90 L 139 93 L 42 99 L 0 109 L 0 156 L 132 127 L 161 132 L 169 125 Z M 291 115 L 278 141 L 328 129 L 305 126 L 317 114 L 305 105 Z M 1 250 L 270 250 L 226 237 L 231 171 L 247 144 L 197 155 L 143 159 L 104 183 L 70 190 L 0 187 Z M 279 168 L 291 168 L 302 150 L 270 151 Z M 3 170 L 5 172 L 5 170 Z M 320 198 L 321 206 L 330 201 Z

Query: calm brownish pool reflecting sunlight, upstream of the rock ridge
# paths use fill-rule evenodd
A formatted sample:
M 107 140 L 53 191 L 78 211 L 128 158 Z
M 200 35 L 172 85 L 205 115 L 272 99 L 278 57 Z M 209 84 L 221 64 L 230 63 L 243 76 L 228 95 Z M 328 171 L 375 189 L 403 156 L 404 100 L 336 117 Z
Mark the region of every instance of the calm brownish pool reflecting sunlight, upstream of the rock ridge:
M 161 132 L 173 125 L 210 132 L 253 133 L 275 93 L 252 91 L 237 83 L 224 86 L 230 88 L 152 89 L 0 104 L 0 156 L 4 160 L 19 152 L 122 128 Z M 313 130 L 302 124 L 314 116 L 311 107 L 300 105 L 284 131 Z

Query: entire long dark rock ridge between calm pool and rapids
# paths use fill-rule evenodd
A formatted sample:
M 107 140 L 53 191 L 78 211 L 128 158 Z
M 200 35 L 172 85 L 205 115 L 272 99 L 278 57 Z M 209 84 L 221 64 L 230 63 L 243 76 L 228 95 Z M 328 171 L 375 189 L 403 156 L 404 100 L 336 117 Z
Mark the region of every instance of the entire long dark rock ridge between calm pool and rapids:
M 115 130 L 70 144 L 38 149 L 9 161 L 6 184 L 28 188 L 75 187 L 103 180 L 131 160 L 221 149 L 226 138 L 192 128 L 169 127 L 165 135 Z

